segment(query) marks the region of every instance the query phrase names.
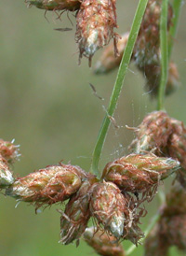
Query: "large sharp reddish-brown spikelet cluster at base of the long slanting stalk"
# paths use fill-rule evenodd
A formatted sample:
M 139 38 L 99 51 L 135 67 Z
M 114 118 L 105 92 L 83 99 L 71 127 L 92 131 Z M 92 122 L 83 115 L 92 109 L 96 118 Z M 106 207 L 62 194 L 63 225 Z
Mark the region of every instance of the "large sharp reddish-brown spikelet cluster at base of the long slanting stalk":
M 2 154 L 12 159 L 14 147 L 7 145 L 11 150 L 2 146 Z M 7 163 L 3 156 L 2 161 Z M 126 239 L 138 245 L 144 236 L 140 218 L 146 213 L 140 204 L 152 200 L 160 180 L 178 167 L 179 162 L 171 158 L 133 153 L 106 164 L 100 179 L 79 166 L 60 163 L 23 178 L 11 176 L 5 189 L 6 195 L 33 204 L 36 209 L 69 199 L 64 210 L 59 210 L 60 242 L 64 245 L 75 240 L 78 243 L 90 218 L 98 232 L 114 237 L 115 241 Z M 3 178 L 2 172 L 0 180 Z

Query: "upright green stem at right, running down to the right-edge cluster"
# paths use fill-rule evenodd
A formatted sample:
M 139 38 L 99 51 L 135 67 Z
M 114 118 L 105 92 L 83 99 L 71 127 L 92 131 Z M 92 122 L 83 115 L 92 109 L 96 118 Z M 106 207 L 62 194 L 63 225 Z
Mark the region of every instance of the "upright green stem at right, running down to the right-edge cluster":
M 162 11 L 160 19 L 160 52 L 161 52 L 161 79 L 158 92 L 157 109 L 164 109 L 166 81 L 168 73 L 168 48 L 167 48 L 167 7 L 168 0 L 162 1 Z

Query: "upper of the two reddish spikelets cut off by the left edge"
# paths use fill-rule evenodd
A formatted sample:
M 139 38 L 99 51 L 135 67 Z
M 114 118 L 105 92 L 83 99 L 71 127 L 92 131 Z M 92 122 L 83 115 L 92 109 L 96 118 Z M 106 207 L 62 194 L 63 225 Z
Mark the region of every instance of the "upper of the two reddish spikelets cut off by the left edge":
M 13 164 L 19 159 L 19 145 L 14 145 L 13 141 L 0 139 L 0 155 L 7 160 L 8 164 Z

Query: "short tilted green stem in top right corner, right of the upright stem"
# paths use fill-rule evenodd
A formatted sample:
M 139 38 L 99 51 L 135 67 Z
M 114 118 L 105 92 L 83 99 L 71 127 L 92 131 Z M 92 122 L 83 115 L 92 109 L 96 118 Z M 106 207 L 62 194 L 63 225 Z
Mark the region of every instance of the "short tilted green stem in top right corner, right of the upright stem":
M 173 44 L 174 44 L 174 39 L 177 34 L 181 5 L 182 5 L 182 0 L 174 0 L 172 5 L 174 16 L 172 19 L 172 26 L 170 27 L 170 30 L 169 30 L 168 59 L 170 59 Z

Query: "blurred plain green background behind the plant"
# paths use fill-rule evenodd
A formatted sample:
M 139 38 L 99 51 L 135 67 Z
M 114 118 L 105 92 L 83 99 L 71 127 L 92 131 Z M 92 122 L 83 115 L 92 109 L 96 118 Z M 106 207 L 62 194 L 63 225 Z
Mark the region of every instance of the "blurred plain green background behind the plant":
M 130 28 L 138 1 L 118 1 L 118 33 Z M 94 76 L 83 59 L 78 66 L 78 49 L 73 31 L 57 32 L 59 27 L 72 27 L 66 13 L 56 20 L 55 13 L 35 7 L 27 8 L 23 1 L 1 1 L 0 8 L 0 137 L 15 138 L 20 144 L 20 162 L 14 165 L 18 176 L 48 164 L 80 165 L 89 170 L 91 154 L 105 114 L 116 71 L 107 76 Z M 182 7 L 179 31 L 172 59 L 178 64 L 180 88 L 166 99 L 168 114 L 185 121 L 186 98 L 186 7 Z M 101 51 L 101 50 L 100 50 Z M 99 58 L 98 51 L 93 65 Z M 104 101 L 95 97 L 91 82 Z M 156 107 L 156 102 L 144 92 L 145 81 L 134 65 L 127 72 L 124 90 L 115 113 L 121 127 L 111 126 L 100 167 L 127 152 L 134 137 L 128 126 L 137 126 L 144 115 Z M 60 256 L 96 255 L 84 242 L 62 246 L 60 240 L 61 206 L 51 206 L 37 215 L 33 206 L 20 203 L 1 194 L 0 255 Z M 142 221 L 143 230 L 158 207 L 154 200 L 149 214 Z M 151 208 L 151 209 L 150 209 Z M 130 243 L 124 243 L 128 247 Z M 139 247 L 131 255 L 142 255 Z M 175 255 L 173 253 L 173 255 Z

